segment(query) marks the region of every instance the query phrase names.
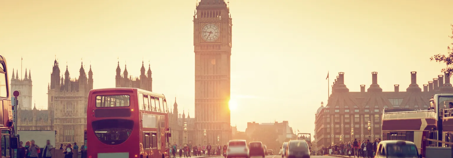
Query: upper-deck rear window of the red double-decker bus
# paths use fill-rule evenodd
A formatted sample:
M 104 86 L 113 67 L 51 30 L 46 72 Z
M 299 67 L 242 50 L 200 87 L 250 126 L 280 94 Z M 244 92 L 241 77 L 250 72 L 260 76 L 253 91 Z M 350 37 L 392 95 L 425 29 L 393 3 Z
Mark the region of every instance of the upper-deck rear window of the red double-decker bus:
M 129 104 L 129 95 L 96 96 L 96 107 L 127 107 Z

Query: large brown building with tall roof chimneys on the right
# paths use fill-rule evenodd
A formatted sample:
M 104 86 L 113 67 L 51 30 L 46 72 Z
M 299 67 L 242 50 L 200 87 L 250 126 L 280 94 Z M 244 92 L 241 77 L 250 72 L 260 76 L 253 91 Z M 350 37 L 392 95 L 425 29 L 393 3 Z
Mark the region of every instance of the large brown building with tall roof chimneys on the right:
M 332 94 L 328 104 L 318 108 L 315 114 L 315 140 L 317 148 L 328 147 L 332 143 L 387 137 L 382 135 L 382 110 L 387 107 L 411 107 L 426 110 L 429 99 L 434 94 L 453 93 L 450 76 L 439 75 L 433 81 L 423 85 L 423 91 L 417 84 L 417 72 L 410 72 L 411 84 L 406 91 L 400 91 L 400 85 L 394 85 L 395 91 L 383 92 L 377 84 L 377 72 L 372 72 L 372 84 L 365 91 L 360 85 L 360 92 L 350 92 L 344 85 L 344 72 L 340 72 L 333 82 Z M 445 83 L 444 83 L 445 81 Z M 371 121 L 371 131 L 368 131 Z M 351 138 L 351 129 L 354 129 Z

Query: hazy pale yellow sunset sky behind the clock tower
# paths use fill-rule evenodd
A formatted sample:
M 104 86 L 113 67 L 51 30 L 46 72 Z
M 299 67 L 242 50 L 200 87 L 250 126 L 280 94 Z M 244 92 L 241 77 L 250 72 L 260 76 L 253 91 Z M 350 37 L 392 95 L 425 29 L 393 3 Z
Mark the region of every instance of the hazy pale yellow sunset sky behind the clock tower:
M 33 96 L 47 107 L 55 55 L 78 77 L 92 64 L 94 88 L 115 86 L 121 71 L 139 76 L 142 59 L 153 91 L 174 96 L 194 116 L 193 11 L 196 0 L 1 0 L 0 54 L 8 71 L 32 71 Z M 288 120 L 313 133 L 314 113 L 331 82 L 345 72 L 350 91 L 378 84 L 405 91 L 410 72 L 432 81 L 443 64 L 430 62 L 452 42 L 452 0 L 230 0 L 231 124 Z M 24 70 L 23 70 L 24 71 Z M 20 71 L 19 71 L 20 73 Z M 11 75 L 11 74 L 10 74 Z M 24 74 L 23 74 L 24 75 Z M 190 125 L 190 124 L 189 124 Z

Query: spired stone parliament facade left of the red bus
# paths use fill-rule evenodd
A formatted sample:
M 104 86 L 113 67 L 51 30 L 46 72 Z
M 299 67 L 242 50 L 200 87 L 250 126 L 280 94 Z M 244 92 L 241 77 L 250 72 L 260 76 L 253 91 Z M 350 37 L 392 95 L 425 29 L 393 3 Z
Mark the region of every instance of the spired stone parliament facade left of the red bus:
M 60 78 L 60 68 L 55 60 L 48 85 L 48 110 L 37 110 L 36 106 L 32 110 L 24 110 L 22 107 L 31 105 L 19 104 L 18 129 L 55 130 L 55 144 L 83 144 L 84 129 L 87 128 L 88 92 L 93 89 L 93 72 L 90 66 L 87 77 L 83 63 L 79 72 L 78 79 L 71 79 L 66 66 L 64 77 L 62 75 Z M 29 93 L 31 96 L 31 91 Z M 19 101 L 22 100 L 21 96 L 18 97 Z

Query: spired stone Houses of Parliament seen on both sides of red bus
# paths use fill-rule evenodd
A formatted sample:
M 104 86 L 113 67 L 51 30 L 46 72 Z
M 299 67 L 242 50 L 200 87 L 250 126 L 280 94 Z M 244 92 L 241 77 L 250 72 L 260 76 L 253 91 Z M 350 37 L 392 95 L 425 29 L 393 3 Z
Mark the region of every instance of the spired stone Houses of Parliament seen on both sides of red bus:
M 25 70 L 24 77 L 20 77 L 18 70 L 11 77 L 11 91 L 19 91 L 18 97 L 18 130 L 56 130 L 55 143 L 83 144 L 84 130 L 87 127 L 87 102 L 88 92 L 93 89 L 93 72 L 90 66 L 86 75 L 83 62 L 79 70 L 78 78 L 71 78 L 66 66 L 64 74 L 60 74 L 60 65 L 54 61 L 50 82 L 48 83 L 48 106 L 47 110 L 40 110 L 32 102 L 33 81 L 31 71 Z M 118 62 L 116 68 L 116 87 L 140 88 L 152 91 L 151 68 L 145 75 L 145 66 L 142 64 L 140 77 L 128 76 L 125 66 L 121 74 Z M 14 72 L 14 71 L 13 71 Z M 169 99 L 169 98 L 168 98 Z M 188 140 L 195 138 L 194 118 L 190 118 L 183 110 L 178 114 L 178 103 L 173 104 L 169 113 L 169 125 L 172 129 L 171 141 L 183 144 L 183 123 L 188 125 Z

